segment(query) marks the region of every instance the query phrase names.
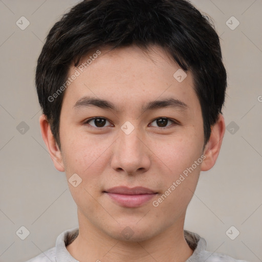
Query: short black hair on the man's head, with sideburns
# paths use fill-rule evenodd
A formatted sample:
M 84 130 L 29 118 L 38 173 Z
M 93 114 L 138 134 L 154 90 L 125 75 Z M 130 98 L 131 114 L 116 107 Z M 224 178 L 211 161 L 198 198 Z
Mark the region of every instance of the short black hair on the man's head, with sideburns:
M 186 0 L 87 0 L 55 23 L 37 60 L 38 99 L 59 148 L 64 92 L 53 94 L 64 86 L 72 63 L 77 67 L 92 50 L 131 45 L 143 50 L 162 47 L 181 69 L 192 72 L 204 144 L 208 142 L 211 126 L 222 113 L 227 87 L 220 39 L 210 18 Z

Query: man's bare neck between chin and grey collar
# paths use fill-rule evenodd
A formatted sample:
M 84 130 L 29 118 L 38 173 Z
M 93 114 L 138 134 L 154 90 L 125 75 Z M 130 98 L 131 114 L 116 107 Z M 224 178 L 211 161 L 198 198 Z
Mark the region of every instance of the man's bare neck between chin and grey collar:
M 78 212 L 79 234 L 67 246 L 69 253 L 81 262 L 184 262 L 193 253 L 184 237 L 184 217 L 160 234 L 140 242 L 112 238 L 83 217 Z

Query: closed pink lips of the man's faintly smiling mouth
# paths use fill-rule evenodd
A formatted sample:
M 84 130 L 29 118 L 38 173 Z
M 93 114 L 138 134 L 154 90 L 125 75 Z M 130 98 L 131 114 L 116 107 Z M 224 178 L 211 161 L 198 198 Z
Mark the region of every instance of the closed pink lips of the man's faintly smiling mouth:
M 157 192 L 145 187 L 113 187 L 104 191 L 122 207 L 139 207 L 155 197 Z

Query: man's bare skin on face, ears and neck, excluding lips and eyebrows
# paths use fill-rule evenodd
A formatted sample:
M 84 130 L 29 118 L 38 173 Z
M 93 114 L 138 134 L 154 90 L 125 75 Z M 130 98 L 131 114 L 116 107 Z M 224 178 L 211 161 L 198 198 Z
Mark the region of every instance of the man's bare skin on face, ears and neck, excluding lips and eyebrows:
M 192 75 L 188 72 L 180 83 L 173 77 L 178 69 L 160 47 L 151 47 L 148 54 L 135 46 L 103 49 L 65 91 L 61 150 L 45 115 L 40 117 L 42 137 L 55 167 L 65 171 L 67 180 L 74 173 L 82 179 L 77 187 L 68 183 L 78 208 L 79 235 L 67 249 L 77 260 L 179 262 L 192 255 L 183 233 L 186 209 L 200 171 L 215 164 L 225 122 L 220 115 L 203 150 L 203 118 Z M 72 66 L 69 75 L 74 72 Z M 119 111 L 74 107 L 84 96 L 111 101 Z M 170 97 L 187 104 L 187 109 L 166 107 L 141 113 L 145 103 Z M 94 121 L 86 123 L 92 117 L 108 121 L 97 127 Z M 159 125 L 155 120 L 161 117 L 177 124 Z M 129 135 L 121 129 L 126 121 L 134 126 Z M 202 164 L 162 203 L 152 205 L 202 155 Z M 122 185 L 144 186 L 158 194 L 140 207 L 122 207 L 103 192 Z M 129 239 L 121 233 L 126 227 L 133 232 Z

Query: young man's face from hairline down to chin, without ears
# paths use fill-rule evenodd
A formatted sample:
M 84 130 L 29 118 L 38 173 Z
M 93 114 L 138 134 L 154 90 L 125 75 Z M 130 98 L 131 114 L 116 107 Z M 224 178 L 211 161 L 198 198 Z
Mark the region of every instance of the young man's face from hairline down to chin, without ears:
M 142 241 L 183 224 L 205 158 L 201 105 L 191 73 L 175 78 L 179 67 L 160 47 L 100 51 L 65 91 L 62 165 L 77 181 L 68 184 L 79 225 Z

